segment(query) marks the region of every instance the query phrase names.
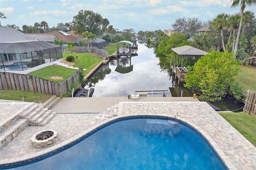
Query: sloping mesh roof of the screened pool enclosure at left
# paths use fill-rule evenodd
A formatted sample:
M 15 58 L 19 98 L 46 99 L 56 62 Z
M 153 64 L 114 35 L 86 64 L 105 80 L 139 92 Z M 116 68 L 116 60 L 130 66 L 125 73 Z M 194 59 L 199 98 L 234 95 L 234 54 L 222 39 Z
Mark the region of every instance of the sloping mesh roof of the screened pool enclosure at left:
M 26 53 L 54 47 L 60 46 L 43 41 L 0 43 L 0 53 Z

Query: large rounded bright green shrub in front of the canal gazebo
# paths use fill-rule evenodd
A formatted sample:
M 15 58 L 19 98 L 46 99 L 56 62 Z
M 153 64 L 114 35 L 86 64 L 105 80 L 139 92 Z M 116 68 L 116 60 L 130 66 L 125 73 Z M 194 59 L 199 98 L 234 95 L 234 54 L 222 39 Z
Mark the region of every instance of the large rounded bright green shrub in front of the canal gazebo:
M 221 100 L 239 71 L 234 53 L 211 52 L 202 56 L 185 75 L 185 87 L 199 94 L 201 99 Z

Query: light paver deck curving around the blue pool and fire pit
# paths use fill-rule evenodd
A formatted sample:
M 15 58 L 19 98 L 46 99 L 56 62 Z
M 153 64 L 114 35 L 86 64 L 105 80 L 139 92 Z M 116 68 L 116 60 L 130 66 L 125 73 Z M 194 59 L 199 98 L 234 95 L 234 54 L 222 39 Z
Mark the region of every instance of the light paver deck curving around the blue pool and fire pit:
M 43 127 L 27 127 L 0 150 L 0 165 L 35 158 L 54 151 L 116 119 L 145 115 L 174 118 L 178 112 L 177 119 L 196 128 L 229 169 L 256 169 L 254 145 L 205 102 L 119 102 L 99 113 L 80 111 L 81 113 L 57 114 Z M 49 128 L 58 131 L 59 140 L 47 148 L 34 148 L 30 137 L 37 131 Z

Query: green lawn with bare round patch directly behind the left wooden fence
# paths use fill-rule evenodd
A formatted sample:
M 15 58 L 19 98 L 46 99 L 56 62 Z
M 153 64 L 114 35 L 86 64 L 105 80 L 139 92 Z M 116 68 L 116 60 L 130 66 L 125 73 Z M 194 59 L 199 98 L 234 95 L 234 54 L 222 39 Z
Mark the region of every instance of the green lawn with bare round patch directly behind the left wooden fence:
M 74 72 L 76 72 L 75 69 L 52 65 L 52 66 L 47 66 L 33 72 L 29 72 L 28 75 L 34 75 L 36 77 L 40 77 L 47 80 L 51 80 L 53 82 L 60 83 L 63 80 L 67 79 L 69 76 L 71 76 Z M 50 78 L 51 76 L 60 76 L 60 77 L 63 77 L 63 79 L 52 79 Z

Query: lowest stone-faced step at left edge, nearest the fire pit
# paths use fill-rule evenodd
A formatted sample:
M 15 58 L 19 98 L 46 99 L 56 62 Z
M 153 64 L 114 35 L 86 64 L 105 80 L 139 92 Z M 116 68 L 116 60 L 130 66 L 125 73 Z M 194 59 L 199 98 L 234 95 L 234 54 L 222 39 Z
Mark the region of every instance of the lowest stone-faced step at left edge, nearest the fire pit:
M 18 119 L 10 127 L 0 133 L 0 150 L 9 144 L 14 137 L 18 136 L 28 126 L 27 119 Z

